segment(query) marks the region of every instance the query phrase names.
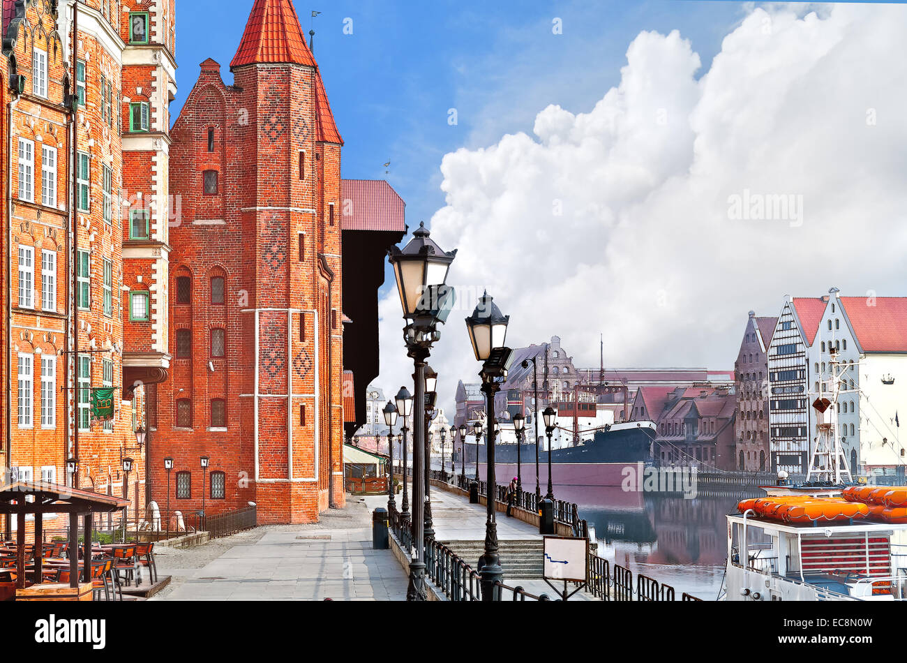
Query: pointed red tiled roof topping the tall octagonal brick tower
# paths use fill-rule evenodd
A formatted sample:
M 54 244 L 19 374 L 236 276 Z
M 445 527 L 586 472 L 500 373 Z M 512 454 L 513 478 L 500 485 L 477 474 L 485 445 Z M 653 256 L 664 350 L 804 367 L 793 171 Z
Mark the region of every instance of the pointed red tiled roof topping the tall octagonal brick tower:
M 291 0 L 255 0 L 230 69 L 258 63 L 315 66 Z

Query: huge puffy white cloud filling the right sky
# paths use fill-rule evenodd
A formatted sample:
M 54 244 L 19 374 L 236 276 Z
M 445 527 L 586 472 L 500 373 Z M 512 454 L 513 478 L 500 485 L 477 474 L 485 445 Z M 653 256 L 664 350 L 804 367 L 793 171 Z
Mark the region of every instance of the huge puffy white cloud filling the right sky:
M 432 237 L 460 249 L 460 309 L 431 360 L 445 405 L 479 370 L 463 317 L 483 288 L 511 346 L 557 335 L 597 366 L 601 332 L 609 366 L 728 370 L 746 312 L 776 315 L 785 294 L 907 294 L 904 34 L 903 6 L 756 8 L 702 72 L 681 34 L 643 32 L 590 112 L 552 105 L 532 136 L 445 155 Z M 739 218 L 735 200 L 789 207 Z M 412 365 L 395 291 L 380 314 L 379 381 L 396 389 Z

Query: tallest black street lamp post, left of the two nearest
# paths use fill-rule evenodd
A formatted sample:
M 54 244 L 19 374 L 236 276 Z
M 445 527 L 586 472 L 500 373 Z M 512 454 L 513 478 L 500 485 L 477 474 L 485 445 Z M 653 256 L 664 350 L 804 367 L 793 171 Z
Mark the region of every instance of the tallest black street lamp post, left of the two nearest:
M 414 440 L 413 440 L 413 551 L 409 565 L 407 600 L 427 600 L 425 590 L 425 486 L 423 481 L 425 428 L 425 363 L 433 344 L 441 337 L 456 298 L 453 288 L 445 285 L 456 251 L 445 252 L 432 239 L 424 224 L 413 233 L 404 249 L 390 249 L 397 291 L 403 307 L 406 354 L 414 364 Z

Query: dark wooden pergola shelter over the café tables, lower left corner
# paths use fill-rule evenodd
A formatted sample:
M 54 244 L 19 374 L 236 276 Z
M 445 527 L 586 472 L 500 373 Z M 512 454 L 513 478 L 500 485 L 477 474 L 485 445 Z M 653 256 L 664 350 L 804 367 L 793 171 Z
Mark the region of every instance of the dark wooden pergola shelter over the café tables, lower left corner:
M 41 584 L 44 558 L 44 513 L 69 513 L 70 587 L 79 587 L 79 516 L 84 517 L 83 582 L 92 581 L 92 521 L 95 513 L 113 513 L 127 500 L 98 492 L 43 482 L 18 482 L 0 487 L 0 513 L 16 516 L 16 587 L 25 588 L 25 516 L 34 515 L 34 584 Z

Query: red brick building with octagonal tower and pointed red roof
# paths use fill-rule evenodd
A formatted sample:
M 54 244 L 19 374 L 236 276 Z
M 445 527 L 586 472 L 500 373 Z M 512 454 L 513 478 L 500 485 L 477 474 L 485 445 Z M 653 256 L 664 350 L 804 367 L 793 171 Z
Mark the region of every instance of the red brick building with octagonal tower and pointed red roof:
M 225 85 L 201 64 L 171 132 L 154 499 L 171 456 L 171 510 L 200 509 L 204 490 L 209 514 L 256 502 L 259 523 L 313 522 L 344 500 L 343 141 L 290 0 L 256 0 L 230 70 Z

